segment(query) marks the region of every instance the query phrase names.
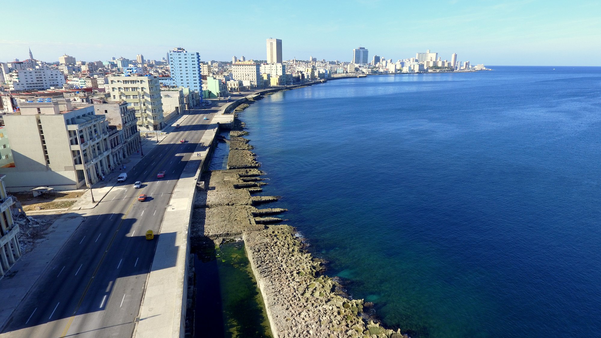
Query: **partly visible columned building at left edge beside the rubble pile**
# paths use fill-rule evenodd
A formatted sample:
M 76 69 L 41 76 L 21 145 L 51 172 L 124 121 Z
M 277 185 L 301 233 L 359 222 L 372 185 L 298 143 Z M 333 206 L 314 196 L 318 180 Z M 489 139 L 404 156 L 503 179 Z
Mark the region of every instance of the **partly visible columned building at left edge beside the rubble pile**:
M 31 54 L 31 52 L 30 52 Z M 7 274 L 8 269 L 21 257 L 19 247 L 19 224 L 13 221 L 10 207 L 15 200 L 6 193 L 4 186 L 5 175 L 0 175 L 0 277 Z

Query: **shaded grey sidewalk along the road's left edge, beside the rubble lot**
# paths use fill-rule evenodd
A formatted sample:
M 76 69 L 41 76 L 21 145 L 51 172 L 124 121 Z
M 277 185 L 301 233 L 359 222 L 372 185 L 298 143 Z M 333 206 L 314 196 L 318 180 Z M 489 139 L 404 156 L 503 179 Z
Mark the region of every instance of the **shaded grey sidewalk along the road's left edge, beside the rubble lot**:
M 0 307 L 0 331 L 12 315 L 14 309 L 25 298 L 31 287 L 49 268 L 50 262 L 84 221 L 81 214 L 69 213 L 59 217 L 46 230 L 44 238 L 38 239 L 34 250 L 24 254 L 0 279 L 2 306 Z

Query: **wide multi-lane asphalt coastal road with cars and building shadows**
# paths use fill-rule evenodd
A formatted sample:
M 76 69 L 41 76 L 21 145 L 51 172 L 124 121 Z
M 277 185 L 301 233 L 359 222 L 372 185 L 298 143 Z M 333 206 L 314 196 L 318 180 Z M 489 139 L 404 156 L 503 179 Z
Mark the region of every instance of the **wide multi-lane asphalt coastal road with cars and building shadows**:
M 160 237 L 147 241 L 145 232 L 159 232 L 175 183 L 221 105 L 191 111 L 85 215 L 0 337 L 132 336 Z M 159 171 L 166 172 L 162 179 Z M 138 201 L 141 193 L 147 201 Z

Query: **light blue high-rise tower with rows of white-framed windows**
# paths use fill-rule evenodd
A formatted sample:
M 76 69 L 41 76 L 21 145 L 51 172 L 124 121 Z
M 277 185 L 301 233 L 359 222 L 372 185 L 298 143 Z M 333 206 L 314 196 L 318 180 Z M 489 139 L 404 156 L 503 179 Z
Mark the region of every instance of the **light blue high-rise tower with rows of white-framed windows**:
M 202 69 L 198 52 L 188 52 L 183 48 L 174 48 L 168 53 L 171 78 L 177 87 L 189 87 L 201 91 Z

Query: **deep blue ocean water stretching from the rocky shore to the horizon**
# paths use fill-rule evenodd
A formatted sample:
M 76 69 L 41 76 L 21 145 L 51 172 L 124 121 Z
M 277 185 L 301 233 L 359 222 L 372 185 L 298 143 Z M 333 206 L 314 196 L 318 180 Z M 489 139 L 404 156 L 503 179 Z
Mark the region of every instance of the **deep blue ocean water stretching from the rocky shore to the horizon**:
M 328 275 L 413 338 L 601 335 L 601 67 L 370 76 L 240 114 Z

